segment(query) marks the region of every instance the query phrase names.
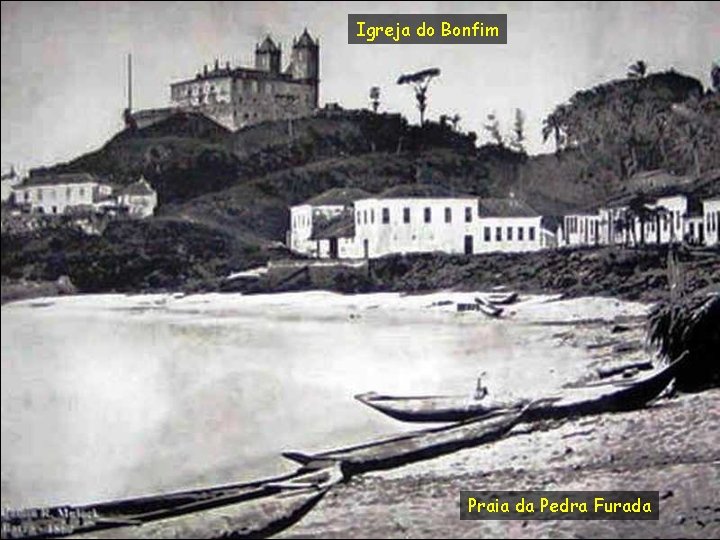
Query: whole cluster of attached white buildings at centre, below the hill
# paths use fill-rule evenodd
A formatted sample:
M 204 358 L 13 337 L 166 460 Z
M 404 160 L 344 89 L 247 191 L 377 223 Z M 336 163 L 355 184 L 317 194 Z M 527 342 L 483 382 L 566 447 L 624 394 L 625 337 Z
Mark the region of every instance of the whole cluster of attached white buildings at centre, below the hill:
M 476 254 L 557 245 L 555 227 L 526 203 L 412 184 L 379 195 L 334 189 L 290 209 L 288 247 L 317 258 Z

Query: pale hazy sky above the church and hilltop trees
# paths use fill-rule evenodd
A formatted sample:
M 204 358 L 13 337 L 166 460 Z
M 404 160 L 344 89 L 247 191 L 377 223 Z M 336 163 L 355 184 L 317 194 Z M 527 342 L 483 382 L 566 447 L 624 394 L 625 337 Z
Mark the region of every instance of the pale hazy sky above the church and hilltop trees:
M 488 141 L 495 113 L 509 133 L 526 116 L 527 150 L 543 144 L 542 120 L 574 92 L 624 77 L 645 60 L 710 82 L 720 58 L 719 2 L 2 2 L 2 169 L 67 161 L 122 129 L 127 54 L 133 106 L 169 104 L 169 83 L 203 64 L 252 66 L 270 34 L 283 47 L 305 27 L 320 38 L 320 103 L 369 107 L 418 122 L 413 93 L 397 77 L 428 67 L 427 116 L 459 114 Z M 506 13 L 504 45 L 347 43 L 348 13 Z

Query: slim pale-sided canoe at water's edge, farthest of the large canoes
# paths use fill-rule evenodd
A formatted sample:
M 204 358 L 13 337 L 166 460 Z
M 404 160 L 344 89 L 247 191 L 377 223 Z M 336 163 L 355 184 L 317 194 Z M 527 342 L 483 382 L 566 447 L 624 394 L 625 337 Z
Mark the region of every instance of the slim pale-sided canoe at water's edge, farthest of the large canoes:
M 384 396 L 358 394 L 359 402 L 402 422 L 462 422 L 507 412 L 520 404 L 478 400 L 471 395 Z

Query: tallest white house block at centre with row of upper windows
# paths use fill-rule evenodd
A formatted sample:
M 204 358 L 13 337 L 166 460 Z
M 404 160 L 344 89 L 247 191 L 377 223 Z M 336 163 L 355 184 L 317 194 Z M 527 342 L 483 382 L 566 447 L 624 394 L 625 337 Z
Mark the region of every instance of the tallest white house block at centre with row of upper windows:
M 475 253 L 477 197 L 408 184 L 355 202 L 354 257 Z

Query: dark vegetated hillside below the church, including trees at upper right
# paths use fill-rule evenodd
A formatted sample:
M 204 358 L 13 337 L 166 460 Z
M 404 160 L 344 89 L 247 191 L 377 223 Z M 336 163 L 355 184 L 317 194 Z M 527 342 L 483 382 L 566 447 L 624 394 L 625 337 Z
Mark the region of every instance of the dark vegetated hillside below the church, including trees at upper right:
M 422 182 L 478 196 L 513 192 L 560 214 L 605 199 L 636 170 L 694 174 L 720 166 L 718 99 L 673 72 L 578 92 L 546 119 L 544 134 L 557 151 L 539 156 L 502 142 L 478 147 L 474 133 L 447 123 L 410 125 L 396 114 L 319 111 L 233 133 L 178 113 L 33 171 L 87 171 L 120 185 L 142 174 L 158 191 L 157 217 L 113 224 L 100 237 L 3 234 L 2 275 L 67 274 L 92 291 L 214 282 L 276 256 L 288 206 L 332 187 L 377 193 Z

